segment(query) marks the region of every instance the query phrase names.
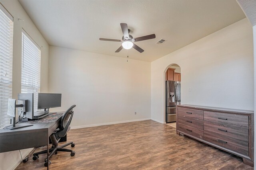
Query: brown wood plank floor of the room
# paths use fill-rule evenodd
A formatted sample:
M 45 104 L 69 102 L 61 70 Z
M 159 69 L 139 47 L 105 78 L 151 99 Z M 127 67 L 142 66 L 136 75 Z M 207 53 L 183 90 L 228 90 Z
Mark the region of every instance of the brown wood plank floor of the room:
M 152 120 L 73 129 L 68 141 L 76 143 L 76 155 L 58 152 L 50 159 L 51 170 L 253 170 L 238 156 Z M 45 170 L 45 157 L 31 156 L 16 170 Z

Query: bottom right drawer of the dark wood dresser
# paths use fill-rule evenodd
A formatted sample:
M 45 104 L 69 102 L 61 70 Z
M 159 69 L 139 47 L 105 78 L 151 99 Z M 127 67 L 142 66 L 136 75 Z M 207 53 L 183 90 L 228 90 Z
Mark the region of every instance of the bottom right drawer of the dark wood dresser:
M 244 154 L 246 156 L 249 155 L 249 146 L 247 142 L 224 137 L 222 135 L 217 135 L 208 131 L 204 131 L 204 140 L 219 145 L 220 147 Z

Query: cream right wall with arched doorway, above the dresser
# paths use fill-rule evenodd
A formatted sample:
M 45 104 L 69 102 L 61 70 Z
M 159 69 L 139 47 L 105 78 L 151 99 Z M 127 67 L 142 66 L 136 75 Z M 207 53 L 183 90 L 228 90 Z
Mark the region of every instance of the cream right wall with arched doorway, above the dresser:
M 254 110 L 252 41 L 245 18 L 153 61 L 152 119 L 164 123 L 164 70 L 173 63 L 181 68 L 182 104 Z

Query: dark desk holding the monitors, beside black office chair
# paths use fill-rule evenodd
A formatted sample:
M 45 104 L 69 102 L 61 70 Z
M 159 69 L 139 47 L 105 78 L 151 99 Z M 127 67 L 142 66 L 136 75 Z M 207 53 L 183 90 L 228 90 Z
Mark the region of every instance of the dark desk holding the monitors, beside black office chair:
M 49 137 L 57 129 L 64 113 L 64 111 L 55 113 L 61 114 L 55 119 L 49 119 L 49 115 L 44 119 L 29 121 L 33 126 L 13 130 L 0 129 L 0 153 L 47 145 L 47 155 L 49 155 Z

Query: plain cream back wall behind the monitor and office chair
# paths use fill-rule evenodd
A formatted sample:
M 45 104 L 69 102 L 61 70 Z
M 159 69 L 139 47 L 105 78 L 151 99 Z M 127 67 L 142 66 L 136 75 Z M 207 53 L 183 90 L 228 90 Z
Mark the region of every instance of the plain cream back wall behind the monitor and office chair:
M 150 63 L 126 60 L 50 46 L 48 89 L 62 93 L 51 110 L 76 104 L 72 128 L 150 119 Z

